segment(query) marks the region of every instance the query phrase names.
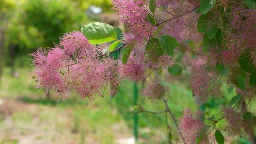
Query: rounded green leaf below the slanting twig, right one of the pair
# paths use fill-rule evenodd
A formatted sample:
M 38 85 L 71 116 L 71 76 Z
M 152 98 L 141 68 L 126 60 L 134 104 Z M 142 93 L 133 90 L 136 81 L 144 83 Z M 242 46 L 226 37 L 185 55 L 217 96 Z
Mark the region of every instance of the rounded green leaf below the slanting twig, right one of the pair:
M 165 53 L 170 56 L 174 55 L 174 47 L 179 46 L 179 43 L 176 41 L 176 39 L 171 36 L 161 36 L 160 43 L 162 48 L 165 50 Z

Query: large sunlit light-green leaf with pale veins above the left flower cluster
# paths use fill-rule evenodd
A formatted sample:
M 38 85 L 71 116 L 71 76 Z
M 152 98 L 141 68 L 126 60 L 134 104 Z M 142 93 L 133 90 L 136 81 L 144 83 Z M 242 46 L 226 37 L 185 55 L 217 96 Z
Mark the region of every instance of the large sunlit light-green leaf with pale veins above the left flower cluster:
M 92 45 L 111 42 L 117 39 L 115 27 L 101 22 L 91 22 L 82 26 L 81 31 Z

